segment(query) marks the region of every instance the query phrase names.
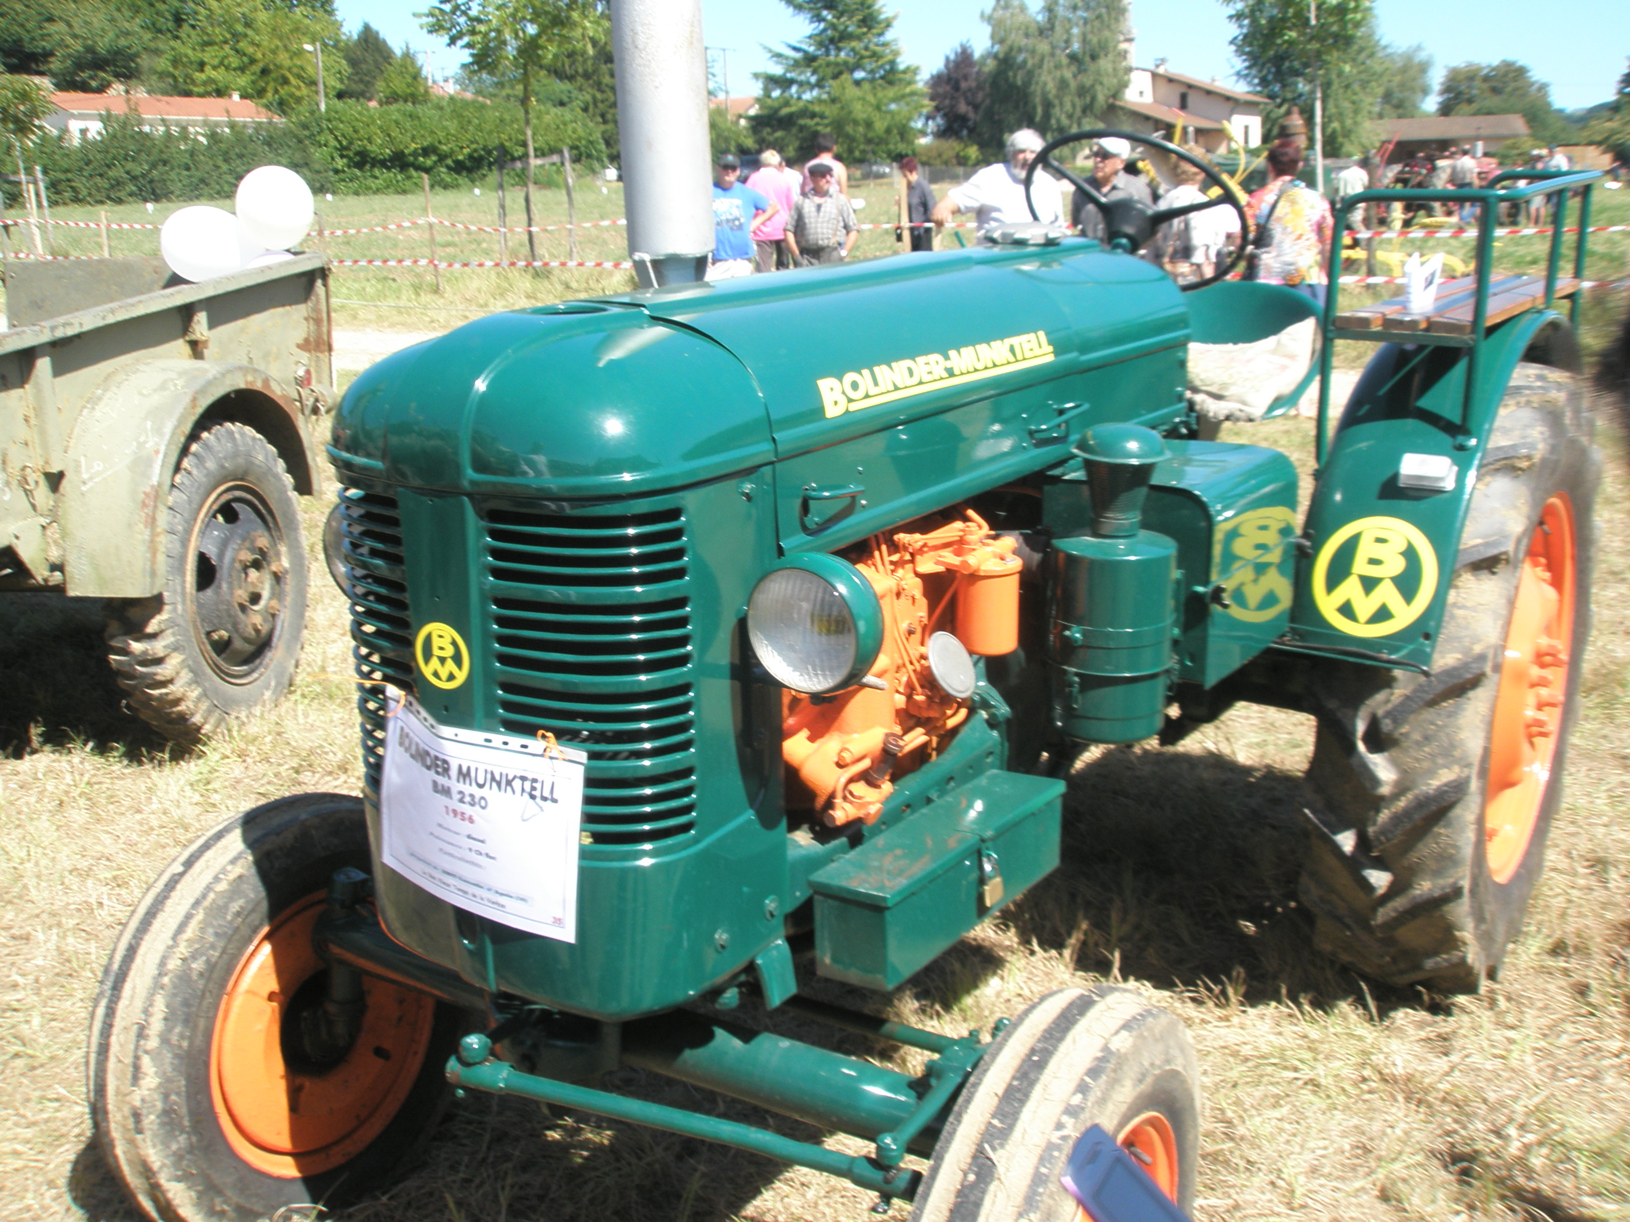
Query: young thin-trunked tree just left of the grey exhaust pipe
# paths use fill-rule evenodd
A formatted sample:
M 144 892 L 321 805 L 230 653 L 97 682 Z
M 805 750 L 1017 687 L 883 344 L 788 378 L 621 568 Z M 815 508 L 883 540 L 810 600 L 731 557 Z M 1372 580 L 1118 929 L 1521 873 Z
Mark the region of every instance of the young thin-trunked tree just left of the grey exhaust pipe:
M 541 75 L 569 75 L 574 59 L 593 55 L 598 42 L 610 42 L 605 8 L 595 0 L 442 0 L 417 16 L 429 33 L 468 51 L 476 72 L 520 73 L 526 137 L 526 249 L 536 261 L 533 81 Z

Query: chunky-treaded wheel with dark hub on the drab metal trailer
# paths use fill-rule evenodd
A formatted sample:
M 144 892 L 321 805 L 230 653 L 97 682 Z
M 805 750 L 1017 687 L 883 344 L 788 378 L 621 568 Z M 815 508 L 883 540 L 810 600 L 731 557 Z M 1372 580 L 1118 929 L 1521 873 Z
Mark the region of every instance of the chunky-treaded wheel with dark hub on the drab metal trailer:
M 196 743 L 289 689 L 305 603 L 289 473 L 253 429 L 218 424 L 170 486 L 165 590 L 109 604 L 108 658 L 142 720 Z

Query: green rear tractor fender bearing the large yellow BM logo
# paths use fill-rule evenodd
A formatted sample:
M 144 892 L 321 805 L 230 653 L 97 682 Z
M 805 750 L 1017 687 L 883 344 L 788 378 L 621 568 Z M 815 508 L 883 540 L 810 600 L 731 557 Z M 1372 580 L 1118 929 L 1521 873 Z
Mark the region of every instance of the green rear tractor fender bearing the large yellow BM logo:
M 1381 345 L 1319 471 L 1281 644 L 1428 670 L 1477 473 L 1511 375 L 1524 358 L 1568 368 L 1575 352 L 1571 327 L 1552 310 L 1529 311 L 1488 334 L 1475 362 L 1474 349 Z M 1469 370 L 1474 385 L 1465 396 Z M 1439 469 L 1447 459 L 1452 486 L 1407 487 L 1400 469 L 1407 455 L 1425 455 Z

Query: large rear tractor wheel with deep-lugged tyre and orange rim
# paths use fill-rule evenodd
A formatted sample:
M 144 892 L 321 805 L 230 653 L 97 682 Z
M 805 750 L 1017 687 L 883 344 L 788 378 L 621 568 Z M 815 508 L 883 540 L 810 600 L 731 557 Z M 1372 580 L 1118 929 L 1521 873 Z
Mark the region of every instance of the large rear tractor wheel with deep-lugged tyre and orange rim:
M 1430 675 L 1322 684 L 1301 898 L 1389 984 L 1474 992 L 1522 927 L 1589 635 L 1599 458 L 1573 375 L 1518 365 L 1478 468 Z

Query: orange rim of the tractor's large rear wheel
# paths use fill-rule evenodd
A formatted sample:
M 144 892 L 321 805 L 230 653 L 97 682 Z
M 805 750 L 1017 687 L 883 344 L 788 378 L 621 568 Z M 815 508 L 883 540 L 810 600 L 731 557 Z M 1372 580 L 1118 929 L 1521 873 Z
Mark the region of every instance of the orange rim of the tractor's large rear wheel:
M 1488 873 L 1509 883 L 1527 855 L 1562 735 L 1573 647 L 1573 502 L 1545 502 L 1522 557 L 1495 696 L 1483 805 Z

